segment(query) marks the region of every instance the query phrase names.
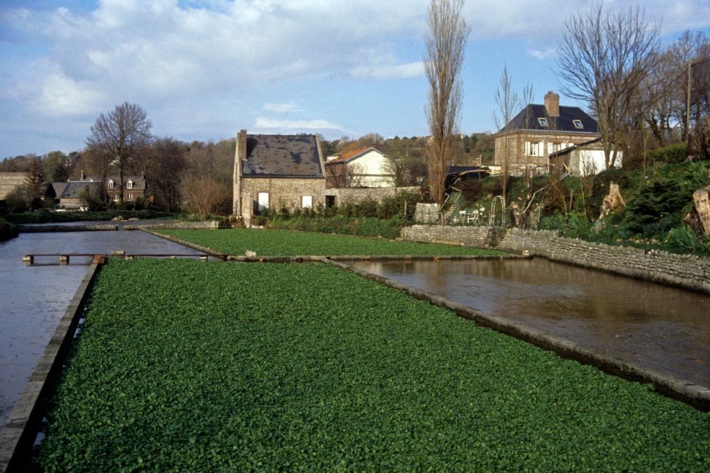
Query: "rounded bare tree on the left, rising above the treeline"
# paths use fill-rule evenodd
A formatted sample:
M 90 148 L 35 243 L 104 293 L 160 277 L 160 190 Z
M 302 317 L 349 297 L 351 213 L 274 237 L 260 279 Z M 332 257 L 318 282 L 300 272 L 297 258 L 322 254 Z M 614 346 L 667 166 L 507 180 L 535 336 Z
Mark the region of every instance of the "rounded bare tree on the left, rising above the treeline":
M 124 102 L 107 115 L 100 114 L 91 127 L 87 146 L 116 166 L 121 203 L 124 201 L 124 175 L 151 144 L 152 126 L 141 106 Z

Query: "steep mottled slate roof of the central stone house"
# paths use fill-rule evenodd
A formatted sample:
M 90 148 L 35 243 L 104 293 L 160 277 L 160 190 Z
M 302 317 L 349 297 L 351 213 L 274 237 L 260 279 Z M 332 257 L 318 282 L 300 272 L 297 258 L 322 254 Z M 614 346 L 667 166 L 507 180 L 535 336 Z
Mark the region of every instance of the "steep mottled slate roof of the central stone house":
M 315 135 L 247 135 L 242 177 L 324 178 Z

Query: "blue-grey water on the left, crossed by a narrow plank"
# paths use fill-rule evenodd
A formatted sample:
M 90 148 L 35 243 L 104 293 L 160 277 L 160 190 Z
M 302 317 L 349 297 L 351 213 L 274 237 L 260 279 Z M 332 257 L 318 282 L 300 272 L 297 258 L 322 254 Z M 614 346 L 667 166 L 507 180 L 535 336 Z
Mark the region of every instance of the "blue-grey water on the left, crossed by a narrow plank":
M 141 231 L 21 233 L 0 243 L 0 426 L 33 372 L 80 282 L 89 257 L 57 265 L 58 257 L 23 265 L 28 254 L 92 253 L 200 255 Z M 84 263 L 84 265 L 82 265 Z

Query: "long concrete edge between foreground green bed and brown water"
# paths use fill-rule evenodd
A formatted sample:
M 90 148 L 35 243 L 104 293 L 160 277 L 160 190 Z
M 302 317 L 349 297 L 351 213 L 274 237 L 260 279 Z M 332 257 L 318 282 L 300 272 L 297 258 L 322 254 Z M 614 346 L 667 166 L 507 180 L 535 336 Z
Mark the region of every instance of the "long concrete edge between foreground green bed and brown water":
M 367 279 L 373 279 L 381 284 L 386 284 L 394 289 L 399 289 L 417 299 L 430 301 L 430 303 L 437 306 L 449 308 L 459 316 L 474 321 L 477 325 L 492 328 L 493 330 L 505 333 L 506 335 L 518 338 L 519 340 L 531 343 L 545 350 L 551 350 L 556 352 L 560 357 L 576 360 L 584 365 L 594 366 L 601 369 L 603 372 L 627 379 L 628 381 L 651 384 L 655 391 L 660 394 L 682 401 L 700 411 L 710 411 L 710 388 L 708 386 L 701 386 L 684 379 L 670 378 L 664 374 L 634 365 L 633 363 L 619 360 L 615 357 L 601 355 L 569 340 L 547 335 L 540 330 L 525 327 L 519 323 L 508 321 L 505 318 L 476 311 L 473 308 L 449 301 L 449 299 L 445 299 L 444 297 L 405 286 L 387 277 L 364 271 L 363 269 L 347 265 L 340 261 L 330 260 L 328 258 L 322 258 L 322 261 L 329 265 L 354 272 Z

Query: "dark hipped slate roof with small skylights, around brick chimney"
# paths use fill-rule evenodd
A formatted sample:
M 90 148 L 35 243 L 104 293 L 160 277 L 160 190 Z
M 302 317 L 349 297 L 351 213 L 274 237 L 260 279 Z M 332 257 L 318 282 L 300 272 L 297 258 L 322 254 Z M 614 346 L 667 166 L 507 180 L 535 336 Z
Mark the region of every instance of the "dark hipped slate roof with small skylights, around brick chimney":
M 526 120 L 528 117 L 529 120 Z M 546 118 L 548 126 L 540 125 L 537 118 Z M 574 120 L 581 121 L 582 128 L 574 126 Z M 528 123 L 525 123 L 526 121 Z M 547 115 L 547 109 L 544 105 L 529 104 L 508 122 L 506 128 L 499 130 L 498 133 L 515 130 L 548 131 L 550 133 L 599 133 L 596 120 L 591 118 L 581 108 L 562 105 L 559 106 L 559 117 L 555 118 Z

